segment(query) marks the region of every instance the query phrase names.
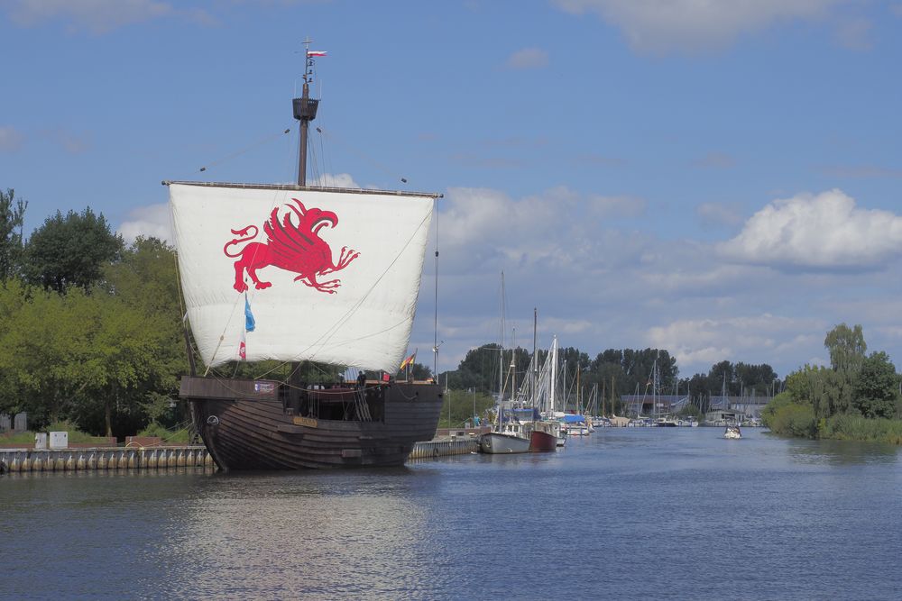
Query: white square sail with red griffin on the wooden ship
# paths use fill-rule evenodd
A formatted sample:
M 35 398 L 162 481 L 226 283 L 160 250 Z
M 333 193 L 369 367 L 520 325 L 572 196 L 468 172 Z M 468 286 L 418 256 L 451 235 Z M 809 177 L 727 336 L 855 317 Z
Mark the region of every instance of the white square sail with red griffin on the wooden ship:
M 252 361 L 397 369 L 437 195 L 169 187 L 182 291 L 207 366 L 238 360 L 244 340 Z

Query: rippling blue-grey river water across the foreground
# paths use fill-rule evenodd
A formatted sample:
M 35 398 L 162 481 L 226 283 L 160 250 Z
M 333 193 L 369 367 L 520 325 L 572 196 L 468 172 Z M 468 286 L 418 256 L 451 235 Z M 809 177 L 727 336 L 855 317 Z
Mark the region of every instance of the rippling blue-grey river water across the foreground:
M 0 598 L 898 599 L 902 454 L 611 428 L 402 469 L 0 477 Z

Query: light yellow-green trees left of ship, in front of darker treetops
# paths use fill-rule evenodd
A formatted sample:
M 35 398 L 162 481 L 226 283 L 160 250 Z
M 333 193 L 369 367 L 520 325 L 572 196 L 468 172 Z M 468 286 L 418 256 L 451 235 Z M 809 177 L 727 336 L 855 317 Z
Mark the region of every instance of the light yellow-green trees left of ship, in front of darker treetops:
M 107 266 L 105 287 L 0 289 L 0 404 L 41 425 L 69 419 L 92 433 L 134 433 L 168 410 L 187 371 L 174 258 L 137 241 Z

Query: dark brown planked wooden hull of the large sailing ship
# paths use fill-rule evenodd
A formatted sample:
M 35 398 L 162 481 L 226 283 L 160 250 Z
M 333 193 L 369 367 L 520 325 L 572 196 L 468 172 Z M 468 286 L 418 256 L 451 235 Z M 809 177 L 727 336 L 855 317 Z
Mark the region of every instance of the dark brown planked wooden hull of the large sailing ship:
M 198 432 L 221 469 L 336 469 L 403 465 L 414 442 L 431 440 L 440 387 L 392 383 L 366 388 L 289 389 L 254 380 L 182 379 Z

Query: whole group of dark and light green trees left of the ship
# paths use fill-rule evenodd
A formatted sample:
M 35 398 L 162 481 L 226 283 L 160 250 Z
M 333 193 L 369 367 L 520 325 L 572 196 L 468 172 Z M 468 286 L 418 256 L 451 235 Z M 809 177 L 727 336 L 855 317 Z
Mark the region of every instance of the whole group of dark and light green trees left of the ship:
M 26 240 L 26 207 L 0 191 L 0 412 L 106 435 L 176 420 L 188 360 L 174 251 L 125 244 L 89 207 L 52 214 Z

